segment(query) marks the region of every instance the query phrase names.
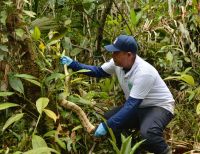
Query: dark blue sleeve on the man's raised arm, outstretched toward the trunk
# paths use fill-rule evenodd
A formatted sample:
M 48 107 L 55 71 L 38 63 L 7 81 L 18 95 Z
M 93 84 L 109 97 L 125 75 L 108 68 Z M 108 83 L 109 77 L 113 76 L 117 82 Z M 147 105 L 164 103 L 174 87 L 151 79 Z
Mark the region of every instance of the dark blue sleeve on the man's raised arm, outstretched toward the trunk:
M 70 65 L 69 68 L 71 68 L 73 71 L 79 71 L 81 69 L 87 69 L 90 70 L 89 72 L 83 72 L 82 74 L 91 76 L 91 77 L 109 77 L 110 74 L 106 73 L 101 67 L 98 66 L 91 66 L 91 65 L 85 65 L 81 64 L 77 61 L 73 61 Z

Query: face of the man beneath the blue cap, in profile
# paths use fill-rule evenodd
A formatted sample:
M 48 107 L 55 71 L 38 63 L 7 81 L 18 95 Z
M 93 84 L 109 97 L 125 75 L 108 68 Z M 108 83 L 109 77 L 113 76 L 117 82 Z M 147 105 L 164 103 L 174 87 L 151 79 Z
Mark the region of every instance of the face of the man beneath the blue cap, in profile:
M 127 69 L 132 67 L 132 57 L 133 55 L 130 52 L 125 51 L 113 52 L 112 54 L 115 65 Z

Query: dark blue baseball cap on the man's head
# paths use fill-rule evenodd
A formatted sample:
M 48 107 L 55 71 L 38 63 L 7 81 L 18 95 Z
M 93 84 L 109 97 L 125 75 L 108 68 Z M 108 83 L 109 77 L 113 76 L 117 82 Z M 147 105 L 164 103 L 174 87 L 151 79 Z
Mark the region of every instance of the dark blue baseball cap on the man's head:
M 127 51 L 137 53 L 138 51 L 138 45 L 135 38 L 128 35 L 120 35 L 115 39 L 113 44 L 104 47 L 109 52 Z

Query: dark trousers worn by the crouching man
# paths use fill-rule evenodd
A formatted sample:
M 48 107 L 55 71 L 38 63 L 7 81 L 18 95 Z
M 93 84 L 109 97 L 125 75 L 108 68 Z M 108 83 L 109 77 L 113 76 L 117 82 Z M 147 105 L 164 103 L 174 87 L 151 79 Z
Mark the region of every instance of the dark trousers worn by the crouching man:
M 121 107 L 116 107 L 104 114 L 106 119 L 117 113 Z M 135 114 L 114 131 L 118 147 L 121 146 L 121 133 L 130 129 L 139 131 L 142 139 L 146 139 L 142 148 L 155 154 L 162 154 L 168 149 L 163 137 L 163 130 L 172 120 L 173 114 L 161 107 L 138 108 Z

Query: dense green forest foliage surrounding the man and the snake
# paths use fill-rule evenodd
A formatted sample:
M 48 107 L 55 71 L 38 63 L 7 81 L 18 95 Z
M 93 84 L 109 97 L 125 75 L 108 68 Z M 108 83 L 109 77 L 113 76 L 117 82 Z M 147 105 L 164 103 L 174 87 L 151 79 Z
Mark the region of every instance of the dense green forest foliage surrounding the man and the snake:
M 66 54 L 101 65 L 111 56 L 103 46 L 119 34 L 136 37 L 139 55 L 159 70 L 176 99 L 175 118 L 166 129 L 168 142 L 174 149 L 185 146 L 183 151 L 200 149 L 198 0 L 2 0 L 0 152 L 119 150 L 114 139 L 94 141 L 77 116 L 59 105 L 65 95 L 98 124 L 104 111 L 123 103 L 115 77 L 94 79 L 70 72 L 66 92 L 59 64 Z M 131 138 L 123 141 L 121 153 Z

